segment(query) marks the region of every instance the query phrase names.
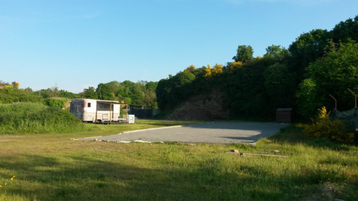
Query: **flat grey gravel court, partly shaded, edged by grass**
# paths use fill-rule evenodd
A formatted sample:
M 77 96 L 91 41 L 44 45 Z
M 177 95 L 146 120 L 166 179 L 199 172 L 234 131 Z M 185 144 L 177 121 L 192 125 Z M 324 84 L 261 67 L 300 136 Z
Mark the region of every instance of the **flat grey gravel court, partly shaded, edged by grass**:
M 171 126 L 127 131 L 117 135 L 81 138 L 105 142 L 181 142 L 181 143 L 256 143 L 258 139 L 270 137 L 288 124 L 212 122 L 185 126 Z

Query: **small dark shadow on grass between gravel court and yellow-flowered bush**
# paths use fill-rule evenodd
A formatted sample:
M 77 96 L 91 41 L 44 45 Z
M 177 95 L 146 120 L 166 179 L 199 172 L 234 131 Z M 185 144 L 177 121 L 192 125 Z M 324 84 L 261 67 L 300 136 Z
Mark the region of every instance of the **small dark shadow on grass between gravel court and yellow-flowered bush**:
M 278 133 L 269 137 L 270 140 L 274 140 L 279 143 L 291 143 L 291 144 L 305 144 L 316 148 L 328 148 L 333 150 L 350 150 L 350 145 L 338 144 L 328 139 L 313 139 L 305 136 L 302 132 L 302 128 L 298 128 L 295 125 L 290 125 L 285 128 L 281 128 Z

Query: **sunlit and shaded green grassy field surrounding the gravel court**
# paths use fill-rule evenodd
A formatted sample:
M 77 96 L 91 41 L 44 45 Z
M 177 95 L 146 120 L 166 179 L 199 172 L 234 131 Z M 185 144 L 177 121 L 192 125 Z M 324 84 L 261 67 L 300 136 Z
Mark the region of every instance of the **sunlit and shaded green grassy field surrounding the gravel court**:
M 255 147 L 69 140 L 182 123 L 189 122 L 0 135 L 0 200 L 358 200 L 358 149 L 305 139 L 294 127 Z

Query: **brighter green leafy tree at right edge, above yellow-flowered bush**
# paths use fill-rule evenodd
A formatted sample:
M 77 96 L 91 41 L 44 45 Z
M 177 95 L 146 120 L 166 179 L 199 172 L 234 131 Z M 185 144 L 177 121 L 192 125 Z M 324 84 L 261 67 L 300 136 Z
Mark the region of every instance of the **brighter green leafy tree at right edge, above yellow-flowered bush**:
M 329 97 L 332 94 L 339 101 L 338 109 L 346 110 L 354 107 L 354 97 L 347 90 L 358 92 L 358 44 L 348 42 L 341 44 L 338 51 L 330 52 L 307 68 L 307 80 L 299 88 L 298 99 L 302 101 L 301 114 L 328 106 L 333 108 L 334 102 Z

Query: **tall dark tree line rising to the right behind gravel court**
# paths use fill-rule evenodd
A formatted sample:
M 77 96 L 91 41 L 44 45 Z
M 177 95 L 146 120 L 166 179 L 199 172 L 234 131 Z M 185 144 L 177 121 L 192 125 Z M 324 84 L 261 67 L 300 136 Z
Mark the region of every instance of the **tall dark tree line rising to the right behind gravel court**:
M 156 89 L 158 106 L 170 110 L 193 94 L 220 90 L 232 117 L 272 118 L 277 108 L 294 108 L 309 118 L 317 109 L 354 107 L 358 94 L 358 16 L 331 31 L 315 29 L 301 34 L 288 49 L 266 48 L 253 57 L 250 45 L 239 45 L 234 61 L 214 67 L 191 65 L 162 79 Z

